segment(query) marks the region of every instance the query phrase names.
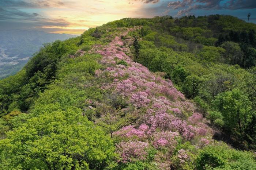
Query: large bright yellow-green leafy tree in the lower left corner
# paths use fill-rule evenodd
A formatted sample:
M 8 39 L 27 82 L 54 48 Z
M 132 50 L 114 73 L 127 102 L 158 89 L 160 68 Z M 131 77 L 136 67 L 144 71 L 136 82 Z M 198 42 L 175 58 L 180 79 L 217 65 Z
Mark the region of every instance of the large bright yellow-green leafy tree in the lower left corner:
M 0 143 L 1 169 L 102 169 L 114 156 L 110 138 L 76 108 L 28 119 Z

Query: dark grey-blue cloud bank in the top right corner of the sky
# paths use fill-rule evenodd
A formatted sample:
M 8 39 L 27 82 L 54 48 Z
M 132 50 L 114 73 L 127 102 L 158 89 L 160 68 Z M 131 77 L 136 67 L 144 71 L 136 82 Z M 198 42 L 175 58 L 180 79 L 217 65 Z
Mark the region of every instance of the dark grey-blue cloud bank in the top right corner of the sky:
M 254 9 L 256 8 L 256 3 L 255 0 L 178 0 L 169 2 L 168 7 L 172 9 L 180 9 L 177 15 L 183 15 L 184 13 L 196 9 Z

